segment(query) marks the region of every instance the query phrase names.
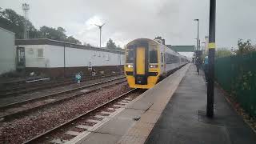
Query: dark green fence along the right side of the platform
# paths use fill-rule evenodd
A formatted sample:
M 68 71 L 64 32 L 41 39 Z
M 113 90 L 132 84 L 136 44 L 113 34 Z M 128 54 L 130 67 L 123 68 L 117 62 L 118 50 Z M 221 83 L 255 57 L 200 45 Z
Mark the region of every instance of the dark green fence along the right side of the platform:
M 217 58 L 215 80 L 250 116 L 256 116 L 256 53 Z

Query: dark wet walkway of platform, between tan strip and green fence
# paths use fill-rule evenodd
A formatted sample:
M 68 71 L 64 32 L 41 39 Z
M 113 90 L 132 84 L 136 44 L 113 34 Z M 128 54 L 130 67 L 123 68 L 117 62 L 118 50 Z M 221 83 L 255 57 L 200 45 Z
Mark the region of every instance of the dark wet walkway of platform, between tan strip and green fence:
M 206 85 L 194 65 L 163 110 L 146 139 L 151 143 L 182 144 L 255 144 L 256 134 L 226 102 L 218 88 L 214 90 L 214 118 L 205 116 Z

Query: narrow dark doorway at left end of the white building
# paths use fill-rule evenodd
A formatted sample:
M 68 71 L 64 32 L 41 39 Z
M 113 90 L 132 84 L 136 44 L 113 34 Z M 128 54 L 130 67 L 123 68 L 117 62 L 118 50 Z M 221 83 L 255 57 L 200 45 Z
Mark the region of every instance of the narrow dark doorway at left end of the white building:
M 25 67 L 26 67 L 25 47 L 18 46 L 16 48 L 16 69 L 24 70 Z

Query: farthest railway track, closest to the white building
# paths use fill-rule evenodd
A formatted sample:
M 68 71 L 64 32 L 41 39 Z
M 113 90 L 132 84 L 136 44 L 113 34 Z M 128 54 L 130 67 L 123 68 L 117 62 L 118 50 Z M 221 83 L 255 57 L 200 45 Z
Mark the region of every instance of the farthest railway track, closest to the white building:
M 115 76 L 118 74 L 98 75 L 95 77 L 86 78 L 86 81 L 94 80 L 97 78 L 111 77 L 111 76 Z M 46 81 L 42 81 L 42 82 L 30 82 L 30 83 L 22 84 L 21 86 L 18 85 L 18 86 L 2 88 L 0 90 L 0 97 L 5 98 L 5 97 L 9 97 L 9 96 L 16 96 L 18 94 L 26 94 L 26 93 L 29 93 L 29 92 L 32 92 L 35 90 L 45 90 L 45 89 L 48 89 L 51 87 L 70 85 L 72 83 L 75 83 L 75 82 L 71 78 L 66 78 L 66 79 L 61 79 L 61 80 L 46 80 Z

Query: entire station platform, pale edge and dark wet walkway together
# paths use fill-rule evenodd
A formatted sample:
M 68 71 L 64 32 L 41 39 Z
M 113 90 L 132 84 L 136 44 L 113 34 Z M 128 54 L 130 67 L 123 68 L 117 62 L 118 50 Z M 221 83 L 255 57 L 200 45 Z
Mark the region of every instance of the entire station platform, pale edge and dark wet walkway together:
M 214 118 L 206 118 L 203 74 L 188 64 L 75 143 L 256 143 L 254 131 L 218 88 L 214 103 Z

